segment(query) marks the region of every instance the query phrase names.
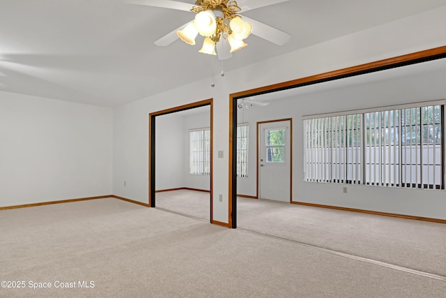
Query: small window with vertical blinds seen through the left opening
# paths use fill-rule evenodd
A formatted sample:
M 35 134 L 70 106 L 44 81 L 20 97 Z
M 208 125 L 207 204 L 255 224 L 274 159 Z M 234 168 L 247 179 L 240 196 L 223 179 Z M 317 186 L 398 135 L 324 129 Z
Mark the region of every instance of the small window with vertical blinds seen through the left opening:
M 210 174 L 210 129 L 189 131 L 189 172 L 196 175 Z

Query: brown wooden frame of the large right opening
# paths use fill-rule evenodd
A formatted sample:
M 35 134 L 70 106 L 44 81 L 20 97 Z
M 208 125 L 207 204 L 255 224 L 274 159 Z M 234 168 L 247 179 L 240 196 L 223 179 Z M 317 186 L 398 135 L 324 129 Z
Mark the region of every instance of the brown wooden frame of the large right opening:
M 302 77 L 277 84 L 271 84 L 254 89 L 229 94 L 229 216 L 228 223 L 231 228 L 237 228 L 237 171 L 236 171 L 236 151 L 237 143 L 237 100 L 267 94 L 275 91 L 303 87 L 311 84 L 319 84 L 332 80 L 339 80 L 344 77 L 353 77 L 365 73 L 373 73 L 380 70 L 397 68 L 409 64 L 417 64 L 425 61 L 446 58 L 446 46 L 435 47 L 420 52 L 412 52 L 397 57 L 372 61 L 367 64 L 360 64 L 348 68 L 332 70 L 327 73 L 319 73 L 309 77 Z

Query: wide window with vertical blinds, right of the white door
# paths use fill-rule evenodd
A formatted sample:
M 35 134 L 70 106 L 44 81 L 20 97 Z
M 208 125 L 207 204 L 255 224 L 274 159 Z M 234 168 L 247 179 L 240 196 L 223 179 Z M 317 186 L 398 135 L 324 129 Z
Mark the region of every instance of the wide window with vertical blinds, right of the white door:
M 444 189 L 443 103 L 305 119 L 305 181 Z

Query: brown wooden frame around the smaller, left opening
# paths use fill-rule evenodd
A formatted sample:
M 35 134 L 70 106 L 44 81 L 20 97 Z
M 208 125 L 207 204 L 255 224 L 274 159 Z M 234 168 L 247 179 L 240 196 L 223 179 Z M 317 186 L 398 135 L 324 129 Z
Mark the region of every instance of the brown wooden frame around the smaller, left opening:
M 152 112 L 148 114 L 148 206 L 156 207 L 155 200 L 155 119 L 157 116 L 172 114 L 185 110 L 194 109 L 195 107 L 210 106 L 210 223 L 214 223 L 213 219 L 213 98 L 171 107 L 166 110 Z

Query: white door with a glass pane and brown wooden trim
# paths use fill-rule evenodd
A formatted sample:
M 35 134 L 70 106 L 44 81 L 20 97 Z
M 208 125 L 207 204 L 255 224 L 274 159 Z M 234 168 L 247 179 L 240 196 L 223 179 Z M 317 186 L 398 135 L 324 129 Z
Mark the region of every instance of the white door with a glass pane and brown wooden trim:
M 291 202 L 291 121 L 261 123 L 259 199 Z

